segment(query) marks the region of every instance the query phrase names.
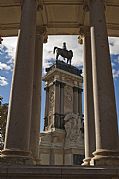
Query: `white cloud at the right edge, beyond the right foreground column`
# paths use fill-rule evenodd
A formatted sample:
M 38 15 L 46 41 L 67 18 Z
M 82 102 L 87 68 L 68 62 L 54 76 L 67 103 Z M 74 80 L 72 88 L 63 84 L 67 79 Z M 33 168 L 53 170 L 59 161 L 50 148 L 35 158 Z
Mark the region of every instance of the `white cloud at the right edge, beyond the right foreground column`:
M 119 54 L 119 37 L 109 37 L 110 53 L 113 55 Z

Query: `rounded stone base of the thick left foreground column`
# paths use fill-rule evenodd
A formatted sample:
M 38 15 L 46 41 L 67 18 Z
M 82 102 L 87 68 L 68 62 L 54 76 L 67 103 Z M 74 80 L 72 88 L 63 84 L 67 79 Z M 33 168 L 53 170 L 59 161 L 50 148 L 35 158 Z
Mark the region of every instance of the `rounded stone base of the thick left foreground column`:
M 34 165 L 30 152 L 21 150 L 3 150 L 0 155 L 0 165 Z

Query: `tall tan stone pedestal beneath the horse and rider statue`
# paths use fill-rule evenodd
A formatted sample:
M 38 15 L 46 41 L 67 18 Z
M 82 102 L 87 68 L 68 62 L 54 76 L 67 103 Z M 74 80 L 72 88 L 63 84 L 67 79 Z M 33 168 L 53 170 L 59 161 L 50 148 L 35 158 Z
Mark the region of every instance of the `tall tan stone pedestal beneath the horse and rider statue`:
M 40 165 L 80 165 L 84 158 L 80 70 L 61 61 L 47 69 L 45 131 L 40 133 Z

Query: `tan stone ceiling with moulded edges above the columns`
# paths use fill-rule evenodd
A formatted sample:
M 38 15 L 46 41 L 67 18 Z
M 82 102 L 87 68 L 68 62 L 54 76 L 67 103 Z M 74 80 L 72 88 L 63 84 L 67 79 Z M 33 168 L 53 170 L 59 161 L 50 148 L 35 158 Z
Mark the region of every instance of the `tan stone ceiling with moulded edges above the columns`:
M 22 0 L 0 0 L 0 35 L 17 35 Z M 77 35 L 88 25 L 86 0 L 39 0 L 37 26 L 46 26 L 49 35 Z M 119 36 L 119 0 L 106 0 L 108 34 Z

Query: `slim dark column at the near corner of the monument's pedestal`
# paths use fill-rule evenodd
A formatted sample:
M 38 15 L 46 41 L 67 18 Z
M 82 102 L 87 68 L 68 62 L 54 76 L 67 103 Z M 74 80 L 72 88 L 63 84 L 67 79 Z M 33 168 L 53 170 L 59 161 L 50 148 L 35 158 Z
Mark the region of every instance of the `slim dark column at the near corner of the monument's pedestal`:
M 54 127 L 60 128 L 60 82 L 54 81 L 55 107 L 54 107 Z

